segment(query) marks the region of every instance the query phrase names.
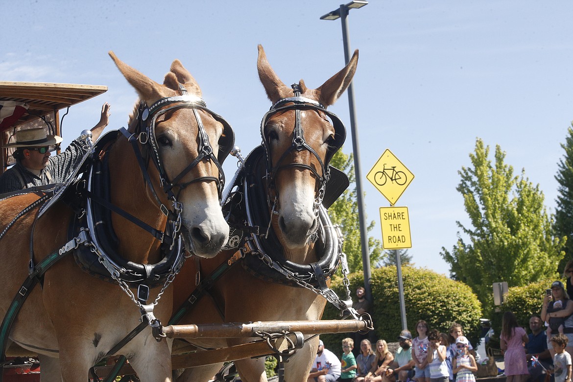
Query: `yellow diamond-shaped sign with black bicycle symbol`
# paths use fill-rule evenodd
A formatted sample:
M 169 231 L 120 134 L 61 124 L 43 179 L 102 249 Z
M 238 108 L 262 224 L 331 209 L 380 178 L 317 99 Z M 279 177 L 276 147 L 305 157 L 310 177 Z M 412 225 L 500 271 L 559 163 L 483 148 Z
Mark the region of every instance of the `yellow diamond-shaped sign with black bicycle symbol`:
M 366 179 L 382 192 L 384 198 L 394 206 L 404 190 L 410 185 L 414 174 L 410 172 L 388 149 L 384 151 Z

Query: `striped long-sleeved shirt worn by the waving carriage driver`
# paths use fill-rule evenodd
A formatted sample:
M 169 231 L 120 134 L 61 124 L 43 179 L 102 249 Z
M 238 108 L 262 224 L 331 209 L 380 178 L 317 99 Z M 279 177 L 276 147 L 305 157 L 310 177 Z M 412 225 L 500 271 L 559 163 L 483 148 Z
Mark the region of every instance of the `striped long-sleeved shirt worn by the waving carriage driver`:
M 64 152 L 50 156 L 48 164 L 44 170 L 40 171 L 40 176 L 28 171 L 17 161 L 0 176 L 0 194 L 34 186 L 45 186 L 50 183 L 64 183 L 73 170 L 80 165 L 81 159 L 87 152 L 87 145 L 77 138 Z M 22 181 L 25 184 L 22 184 Z

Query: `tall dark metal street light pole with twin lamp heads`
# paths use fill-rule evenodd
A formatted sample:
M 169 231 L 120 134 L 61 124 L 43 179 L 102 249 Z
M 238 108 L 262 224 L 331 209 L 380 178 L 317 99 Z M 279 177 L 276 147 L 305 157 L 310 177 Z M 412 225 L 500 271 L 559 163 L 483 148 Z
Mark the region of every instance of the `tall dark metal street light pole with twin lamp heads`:
M 344 45 L 344 62 L 350 61 L 350 39 L 348 38 L 348 10 L 360 8 L 367 5 L 367 1 L 354 0 L 346 5 L 341 4 L 340 8 L 325 14 L 320 19 L 335 20 L 340 17 L 342 21 L 342 42 Z M 362 267 L 364 271 L 364 291 L 366 298 L 372 301 L 372 290 L 370 281 L 372 273 L 370 270 L 370 251 L 368 250 L 368 232 L 366 230 L 366 215 L 364 214 L 364 194 L 362 192 L 362 170 L 360 170 L 360 149 L 358 144 L 358 123 L 356 122 L 354 103 L 354 82 L 350 82 L 346 90 L 348 92 L 348 107 L 350 108 L 350 132 L 352 136 L 352 152 L 354 153 L 354 174 L 356 177 L 356 203 L 358 203 L 358 218 L 360 225 L 360 247 L 362 248 Z

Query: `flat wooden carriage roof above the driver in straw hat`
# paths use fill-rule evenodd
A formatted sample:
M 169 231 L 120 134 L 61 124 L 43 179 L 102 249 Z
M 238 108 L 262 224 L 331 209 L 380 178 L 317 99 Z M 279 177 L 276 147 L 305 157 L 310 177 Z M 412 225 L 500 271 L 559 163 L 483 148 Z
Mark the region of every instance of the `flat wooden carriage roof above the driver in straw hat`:
M 20 117 L 14 127 L 105 92 L 107 86 L 99 85 L 0 81 L 0 101 L 25 102 L 30 105 L 28 112 Z

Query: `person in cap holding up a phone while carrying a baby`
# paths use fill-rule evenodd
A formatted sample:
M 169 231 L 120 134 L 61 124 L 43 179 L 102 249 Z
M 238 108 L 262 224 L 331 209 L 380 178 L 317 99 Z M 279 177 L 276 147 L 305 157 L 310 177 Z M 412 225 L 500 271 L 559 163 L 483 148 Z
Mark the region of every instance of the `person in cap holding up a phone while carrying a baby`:
M 552 322 L 553 318 L 562 318 L 563 322 L 563 334 L 568 338 L 569 344 L 573 340 L 573 301 L 569 299 L 569 295 L 565 290 L 565 286 L 561 281 L 554 281 L 551 283 L 551 294 L 548 296 L 545 294 L 543 298 L 543 305 L 541 306 L 541 320 L 545 322 Z M 548 335 L 548 341 L 551 341 L 552 337 L 559 334 L 556 330 Z M 555 355 L 554 350 L 551 345 L 548 344 L 551 356 Z M 567 352 L 573 352 L 573 348 L 568 345 Z

